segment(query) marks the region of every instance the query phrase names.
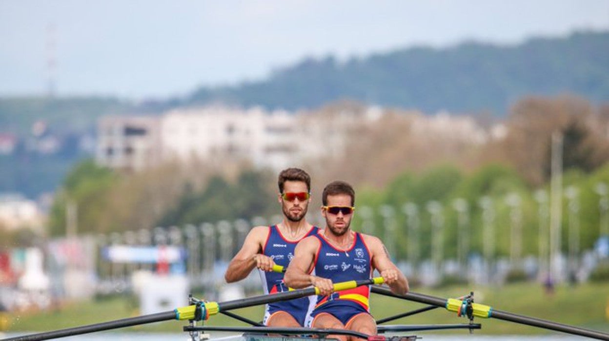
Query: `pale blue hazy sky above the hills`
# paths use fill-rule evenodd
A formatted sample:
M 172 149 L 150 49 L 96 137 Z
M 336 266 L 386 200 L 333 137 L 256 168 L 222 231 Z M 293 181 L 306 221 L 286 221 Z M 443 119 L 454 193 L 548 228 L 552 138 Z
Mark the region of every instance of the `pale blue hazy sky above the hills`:
M 306 57 L 608 29 L 609 0 L 0 0 L 0 96 L 52 75 L 58 96 L 169 98 Z

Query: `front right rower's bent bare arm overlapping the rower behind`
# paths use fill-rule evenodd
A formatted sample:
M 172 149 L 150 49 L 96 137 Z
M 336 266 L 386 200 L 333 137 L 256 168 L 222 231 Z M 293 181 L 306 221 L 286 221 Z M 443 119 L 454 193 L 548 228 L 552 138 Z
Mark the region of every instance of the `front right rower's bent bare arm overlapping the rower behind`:
M 296 245 L 294 258 L 290 260 L 286 275 L 283 276 L 283 281 L 288 287 L 301 289 L 313 285 L 319 288 L 320 295 L 332 293 L 332 281 L 330 279 L 309 274 L 309 269 L 313 266 L 315 254 L 319 248 L 319 239 L 312 236 L 306 237 Z

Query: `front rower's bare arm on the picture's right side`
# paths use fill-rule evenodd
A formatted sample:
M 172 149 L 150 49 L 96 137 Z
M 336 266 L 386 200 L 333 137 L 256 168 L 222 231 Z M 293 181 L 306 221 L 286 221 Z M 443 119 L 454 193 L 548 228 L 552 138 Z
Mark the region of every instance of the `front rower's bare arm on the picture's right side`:
M 385 284 L 389 285 L 391 291 L 398 295 L 408 292 L 408 280 L 406 276 L 393 264 L 387 248 L 377 237 L 364 235 L 364 240 L 372 253 L 372 265 L 381 273 Z

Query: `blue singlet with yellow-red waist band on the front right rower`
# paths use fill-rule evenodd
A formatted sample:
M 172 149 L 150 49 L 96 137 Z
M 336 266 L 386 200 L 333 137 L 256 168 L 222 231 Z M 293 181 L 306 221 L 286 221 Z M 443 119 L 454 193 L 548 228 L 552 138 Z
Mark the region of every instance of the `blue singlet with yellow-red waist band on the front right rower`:
M 354 232 L 353 245 L 347 250 L 335 248 L 323 234 L 316 234 L 315 237 L 320 240 L 321 246 L 315 256 L 312 275 L 329 278 L 333 283 L 370 278 L 372 259 L 361 234 Z M 326 312 L 342 321 L 343 325 L 347 325 L 355 315 L 370 312 L 368 298 L 370 285 L 334 292 L 329 296 L 319 295 L 312 317 Z M 309 325 L 311 322 L 312 318 L 308 321 Z

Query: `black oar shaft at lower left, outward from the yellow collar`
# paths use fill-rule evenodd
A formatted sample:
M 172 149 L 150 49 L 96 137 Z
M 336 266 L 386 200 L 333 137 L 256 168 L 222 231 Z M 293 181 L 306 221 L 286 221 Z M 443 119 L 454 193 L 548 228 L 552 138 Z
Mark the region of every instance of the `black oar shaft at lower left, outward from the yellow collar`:
M 174 310 L 167 312 L 159 312 L 157 314 L 150 314 L 132 318 L 124 318 L 122 320 L 108 321 L 104 323 L 96 323 L 94 325 L 86 325 L 74 328 L 59 329 L 57 331 L 40 332 L 38 334 L 30 334 L 24 336 L 11 337 L 9 339 L 2 339 L 2 341 L 38 341 L 38 340 L 50 340 L 57 339 L 58 337 L 66 337 L 80 334 L 87 334 L 90 332 L 107 331 L 110 329 L 123 328 L 129 326 L 144 325 L 146 323 L 168 321 L 175 319 Z

